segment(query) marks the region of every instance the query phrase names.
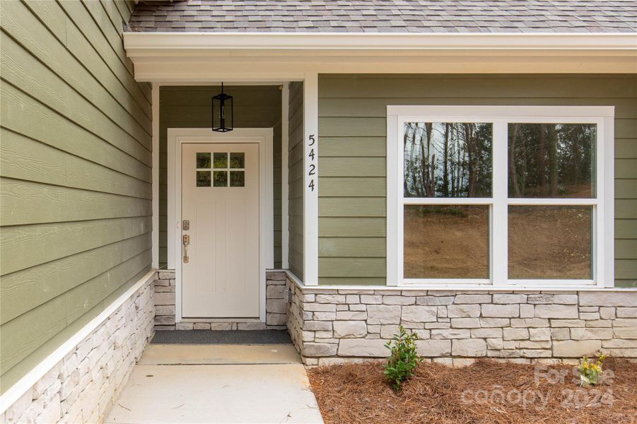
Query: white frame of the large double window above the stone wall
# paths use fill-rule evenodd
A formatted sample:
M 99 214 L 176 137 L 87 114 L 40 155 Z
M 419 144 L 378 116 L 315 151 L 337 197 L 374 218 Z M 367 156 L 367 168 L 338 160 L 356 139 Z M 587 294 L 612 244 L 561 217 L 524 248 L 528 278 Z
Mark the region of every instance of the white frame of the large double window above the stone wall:
M 490 198 L 409 199 L 403 196 L 406 122 L 493 124 Z M 596 124 L 595 199 L 509 199 L 508 123 Z M 614 107 L 612 106 L 387 106 L 387 285 L 426 288 L 575 288 L 614 286 Z M 489 278 L 404 278 L 403 208 L 408 204 L 488 205 Z M 590 280 L 508 279 L 509 205 L 592 206 L 593 275 Z M 494 225 L 500 223 L 500 225 Z

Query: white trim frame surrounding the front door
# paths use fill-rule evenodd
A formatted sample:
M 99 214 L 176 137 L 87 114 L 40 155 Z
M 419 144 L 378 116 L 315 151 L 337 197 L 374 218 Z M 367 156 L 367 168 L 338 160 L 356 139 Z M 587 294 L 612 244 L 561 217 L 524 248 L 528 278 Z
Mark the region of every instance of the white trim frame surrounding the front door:
M 237 128 L 216 133 L 209 128 L 168 129 L 168 269 L 175 269 L 175 322 L 182 321 L 182 144 L 259 144 L 259 319 L 265 322 L 265 271 L 274 268 L 274 187 L 271 128 Z

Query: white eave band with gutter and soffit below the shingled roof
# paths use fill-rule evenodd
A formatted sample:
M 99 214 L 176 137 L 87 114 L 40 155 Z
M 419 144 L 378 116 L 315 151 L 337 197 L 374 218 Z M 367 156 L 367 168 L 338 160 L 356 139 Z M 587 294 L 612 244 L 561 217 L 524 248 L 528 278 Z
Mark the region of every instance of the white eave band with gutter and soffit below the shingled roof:
M 124 47 L 138 81 L 228 73 L 247 80 L 258 80 L 259 73 L 302 79 L 309 70 L 637 73 L 636 33 L 124 33 Z M 255 64 L 257 72 L 247 66 Z

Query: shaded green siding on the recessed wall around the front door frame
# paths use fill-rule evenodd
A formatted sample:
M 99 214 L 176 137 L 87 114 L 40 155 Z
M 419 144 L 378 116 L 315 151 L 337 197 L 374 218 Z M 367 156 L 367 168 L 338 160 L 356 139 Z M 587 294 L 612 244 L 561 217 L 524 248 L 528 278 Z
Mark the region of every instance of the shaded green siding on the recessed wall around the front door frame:
M 272 128 L 274 160 L 274 267 L 281 268 L 281 89 L 279 86 L 226 86 L 233 96 L 235 128 Z M 169 128 L 211 128 L 211 98 L 217 86 L 161 87 L 159 91 L 159 262 L 168 262 Z M 211 131 L 212 134 L 212 131 Z

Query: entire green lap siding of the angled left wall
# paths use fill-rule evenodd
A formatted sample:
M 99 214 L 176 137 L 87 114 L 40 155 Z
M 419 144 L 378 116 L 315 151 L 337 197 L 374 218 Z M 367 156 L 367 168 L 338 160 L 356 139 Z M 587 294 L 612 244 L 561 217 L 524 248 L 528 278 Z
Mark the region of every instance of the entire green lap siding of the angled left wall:
M 0 2 L 0 391 L 151 268 L 151 87 L 125 1 Z

